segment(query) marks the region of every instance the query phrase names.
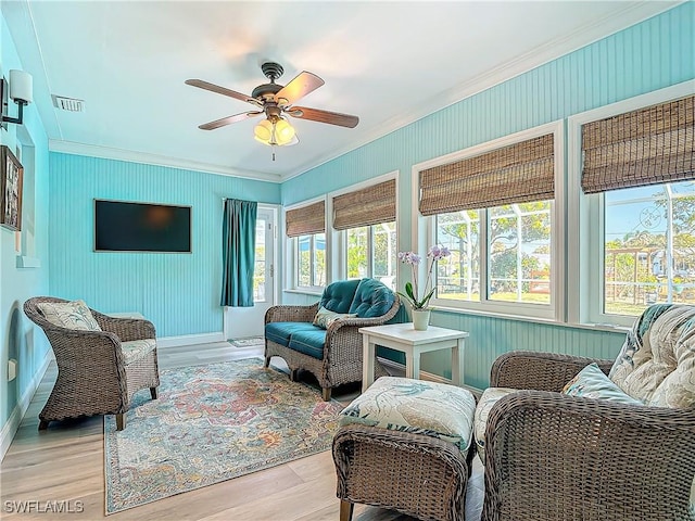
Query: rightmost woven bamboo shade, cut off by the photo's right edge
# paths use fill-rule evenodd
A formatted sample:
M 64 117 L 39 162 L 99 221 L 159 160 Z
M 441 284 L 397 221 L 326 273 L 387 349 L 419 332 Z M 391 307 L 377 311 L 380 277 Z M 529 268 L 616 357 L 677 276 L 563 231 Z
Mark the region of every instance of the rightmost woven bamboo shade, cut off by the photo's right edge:
M 582 190 L 695 178 L 695 96 L 582 126 Z

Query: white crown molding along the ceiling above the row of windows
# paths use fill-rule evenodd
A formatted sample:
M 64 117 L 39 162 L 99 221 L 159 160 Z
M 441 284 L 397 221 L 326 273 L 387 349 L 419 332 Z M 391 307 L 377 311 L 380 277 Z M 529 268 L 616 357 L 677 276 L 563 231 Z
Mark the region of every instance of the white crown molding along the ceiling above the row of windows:
M 658 14 L 680 5 L 681 3 L 685 3 L 685 1 L 686 0 L 672 2 L 645 1 L 636 5 L 628 5 L 618 10 L 599 23 L 585 24 L 583 27 L 580 27 L 572 33 L 555 38 L 554 40 L 545 42 L 525 54 L 509 60 L 504 64 L 477 76 L 470 81 L 466 81 L 454 86 L 451 89 L 444 90 L 440 94 L 432 97 L 429 103 L 420 104 L 417 110 L 409 111 L 407 114 L 391 118 L 375 127 L 371 132 L 366 135 L 358 142 L 352 142 L 341 149 L 332 151 L 331 154 L 316 157 L 314 161 L 306 162 L 300 168 L 282 175 L 281 180 L 282 182 L 288 181 L 293 177 L 298 177 L 311 169 L 317 168 L 337 157 L 340 157 L 341 155 L 352 152 L 353 150 L 357 150 L 379 138 L 422 119 L 430 114 L 458 103 L 466 98 L 470 98 L 471 96 L 478 94 L 496 85 L 515 78 L 528 71 L 532 71 L 545 63 L 549 63 L 565 56 L 566 54 L 582 49 L 583 47 L 590 46 L 598 40 L 644 22 L 645 20 L 657 16 Z

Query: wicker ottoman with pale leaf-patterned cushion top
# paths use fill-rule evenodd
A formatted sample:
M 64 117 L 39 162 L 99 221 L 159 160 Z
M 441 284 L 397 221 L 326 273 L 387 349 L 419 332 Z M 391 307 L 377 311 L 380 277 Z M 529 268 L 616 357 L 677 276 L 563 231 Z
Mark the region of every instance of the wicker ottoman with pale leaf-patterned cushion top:
M 475 396 L 454 385 L 377 380 L 341 412 L 333 437 L 341 521 L 355 503 L 463 520 L 475 409 Z

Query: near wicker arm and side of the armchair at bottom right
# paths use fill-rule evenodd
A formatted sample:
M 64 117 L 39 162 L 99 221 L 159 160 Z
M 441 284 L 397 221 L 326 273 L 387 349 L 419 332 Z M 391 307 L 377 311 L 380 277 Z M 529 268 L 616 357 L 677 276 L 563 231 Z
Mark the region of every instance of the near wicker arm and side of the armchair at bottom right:
M 511 393 L 488 418 L 483 519 L 692 519 L 694 452 L 695 408 Z

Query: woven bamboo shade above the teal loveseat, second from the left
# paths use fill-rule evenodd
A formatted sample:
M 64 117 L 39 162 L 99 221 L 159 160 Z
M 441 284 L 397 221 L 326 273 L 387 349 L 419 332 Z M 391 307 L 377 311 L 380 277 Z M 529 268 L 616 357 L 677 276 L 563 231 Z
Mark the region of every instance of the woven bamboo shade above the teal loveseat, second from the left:
M 395 220 L 395 179 L 333 198 L 337 230 L 392 220 Z

